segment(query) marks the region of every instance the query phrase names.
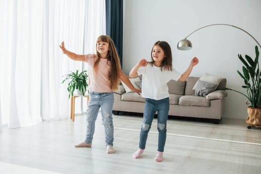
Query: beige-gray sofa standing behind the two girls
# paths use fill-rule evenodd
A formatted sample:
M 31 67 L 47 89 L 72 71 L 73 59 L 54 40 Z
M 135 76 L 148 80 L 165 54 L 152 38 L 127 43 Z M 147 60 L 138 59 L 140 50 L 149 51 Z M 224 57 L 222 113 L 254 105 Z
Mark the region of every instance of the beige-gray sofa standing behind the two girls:
M 192 88 L 199 77 L 189 77 L 186 82 L 170 81 L 168 83 L 170 93 L 171 116 L 196 117 L 211 119 L 218 124 L 222 118 L 224 99 L 227 92 L 221 90 L 226 87 L 227 80 L 223 78 L 215 91 L 205 97 L 195 95 Z M 119 111 L 143 113 L 145 98 L 134 92 L 126 92 L 122 85 L 114 91 L 113 114 Z

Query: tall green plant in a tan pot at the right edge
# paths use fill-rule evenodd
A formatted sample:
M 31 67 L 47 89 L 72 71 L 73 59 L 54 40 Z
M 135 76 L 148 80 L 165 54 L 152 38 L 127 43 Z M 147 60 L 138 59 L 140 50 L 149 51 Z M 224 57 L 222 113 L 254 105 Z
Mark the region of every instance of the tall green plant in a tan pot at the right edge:
M 252 59 L 246 55 L 245 59 L 238 55 L 239 59 L 243 63 L 242 71 L 237 71 L 239 76 L 244 80 L 245 85 L 242 87 L 247 90 L 246 94 L 238 90 L 231 88 L 224 88 L 224 90 L 233 90 L 248 98 L 248 128 L 251 126 L 261 126 L 261 70 L 259 67 L 259 48 L 255 47 L 256 58 Z

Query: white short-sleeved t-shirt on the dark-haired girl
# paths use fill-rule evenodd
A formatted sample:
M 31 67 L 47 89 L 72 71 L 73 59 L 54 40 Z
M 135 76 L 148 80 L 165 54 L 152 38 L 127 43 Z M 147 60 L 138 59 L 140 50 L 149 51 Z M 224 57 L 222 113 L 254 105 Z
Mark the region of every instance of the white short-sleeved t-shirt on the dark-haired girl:
M 142 97 L 156 100 L 169 97 L 167 83 L 170 80 L 177 81 L 181 76 L 175 69 L 173 71 L 161 71 L 161 67 L 155 67 L 151 64 L 140 67 L 137 73 L 142 75 Z

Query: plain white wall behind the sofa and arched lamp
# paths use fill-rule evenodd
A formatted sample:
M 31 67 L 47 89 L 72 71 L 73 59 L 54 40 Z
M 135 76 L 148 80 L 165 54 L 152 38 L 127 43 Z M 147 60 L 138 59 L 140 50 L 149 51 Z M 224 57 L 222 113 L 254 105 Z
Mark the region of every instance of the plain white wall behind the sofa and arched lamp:
M 177 50 L 177 42 L 194 30 L 209 24 L 238 26 L 261 43 L 261 0 L 125 0 L 124 1 L 123 71 L 128 74 L 150 53 L 157 40 L 172 46 L 174 68 L 180 73 L 192 57 L 199 59 L 190 76 L 204 72 L 227 78 L 227 87 L 245 91 L 237 74 L 242 69 L 238 54 L 255 57 L 256 42 L 245 32 L 230 26 L 203 28 L 187 39 L 193 48 Z M 261 49 L 260 49 L 261 52 Z M 247 98 L 228 91 L 224 117 L 246 119 Z

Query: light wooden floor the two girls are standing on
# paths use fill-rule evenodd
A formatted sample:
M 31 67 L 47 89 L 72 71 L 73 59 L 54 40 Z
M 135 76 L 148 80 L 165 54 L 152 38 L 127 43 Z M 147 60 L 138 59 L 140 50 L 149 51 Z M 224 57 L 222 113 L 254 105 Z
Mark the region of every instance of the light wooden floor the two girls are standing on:
M 141 116 L 114 116 L 115 154 L 106 154 L 101 116 L 91 148 L 75 148 L 85 138 L 86 117 L 44 121 L 32 127 L 0 132 L 1 174 L 261 174 L 261 128 L 247 129 L 245 120 L 223 118 L 219 125 L 168 120 L 164 161 L 157 152 L 157 120 L 146 150 L 138 149 Z

